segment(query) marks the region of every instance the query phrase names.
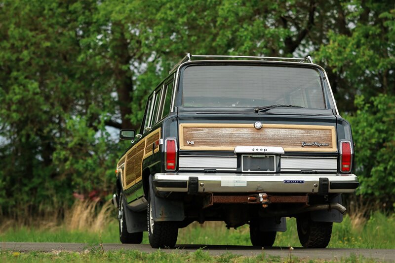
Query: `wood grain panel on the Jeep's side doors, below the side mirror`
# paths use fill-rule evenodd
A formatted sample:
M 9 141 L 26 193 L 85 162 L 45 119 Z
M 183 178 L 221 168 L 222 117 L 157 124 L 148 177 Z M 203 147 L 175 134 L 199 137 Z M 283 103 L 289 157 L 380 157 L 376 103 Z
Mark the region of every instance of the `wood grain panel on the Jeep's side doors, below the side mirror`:
M 142 139 L 136 145 L 134 145 L 126 153 L 126 164 L 124 172 L 124 188 L 131 186 L 137 177 L 141 176 L 141 164 L 143 162 L 145 149 L 145 139 Z

